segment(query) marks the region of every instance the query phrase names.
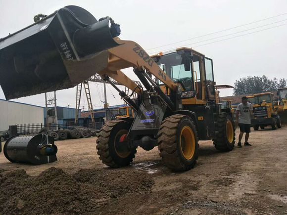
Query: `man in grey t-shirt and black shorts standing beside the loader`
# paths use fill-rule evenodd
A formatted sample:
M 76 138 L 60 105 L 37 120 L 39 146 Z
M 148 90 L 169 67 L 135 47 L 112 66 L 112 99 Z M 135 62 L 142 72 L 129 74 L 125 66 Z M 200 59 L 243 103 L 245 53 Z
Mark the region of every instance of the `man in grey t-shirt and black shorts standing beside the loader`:
M 252 104 L 247 102 L 247 98 L 244 96 L 241 98 L 241 103 L 237 106 L 236 109 L 236 125 L 239 125 L 240 128 L 240 134 L 238 137 L 238 147 L 241 146 L 241 139 L 243 136 L 243 133 L 245 133 L 245 142 L 244 146 L 251 146 L 251 144 L 248 143 L 248 137 L 250 133 L 250 124 L 251 124 L 251 113 L 252 113 Z

